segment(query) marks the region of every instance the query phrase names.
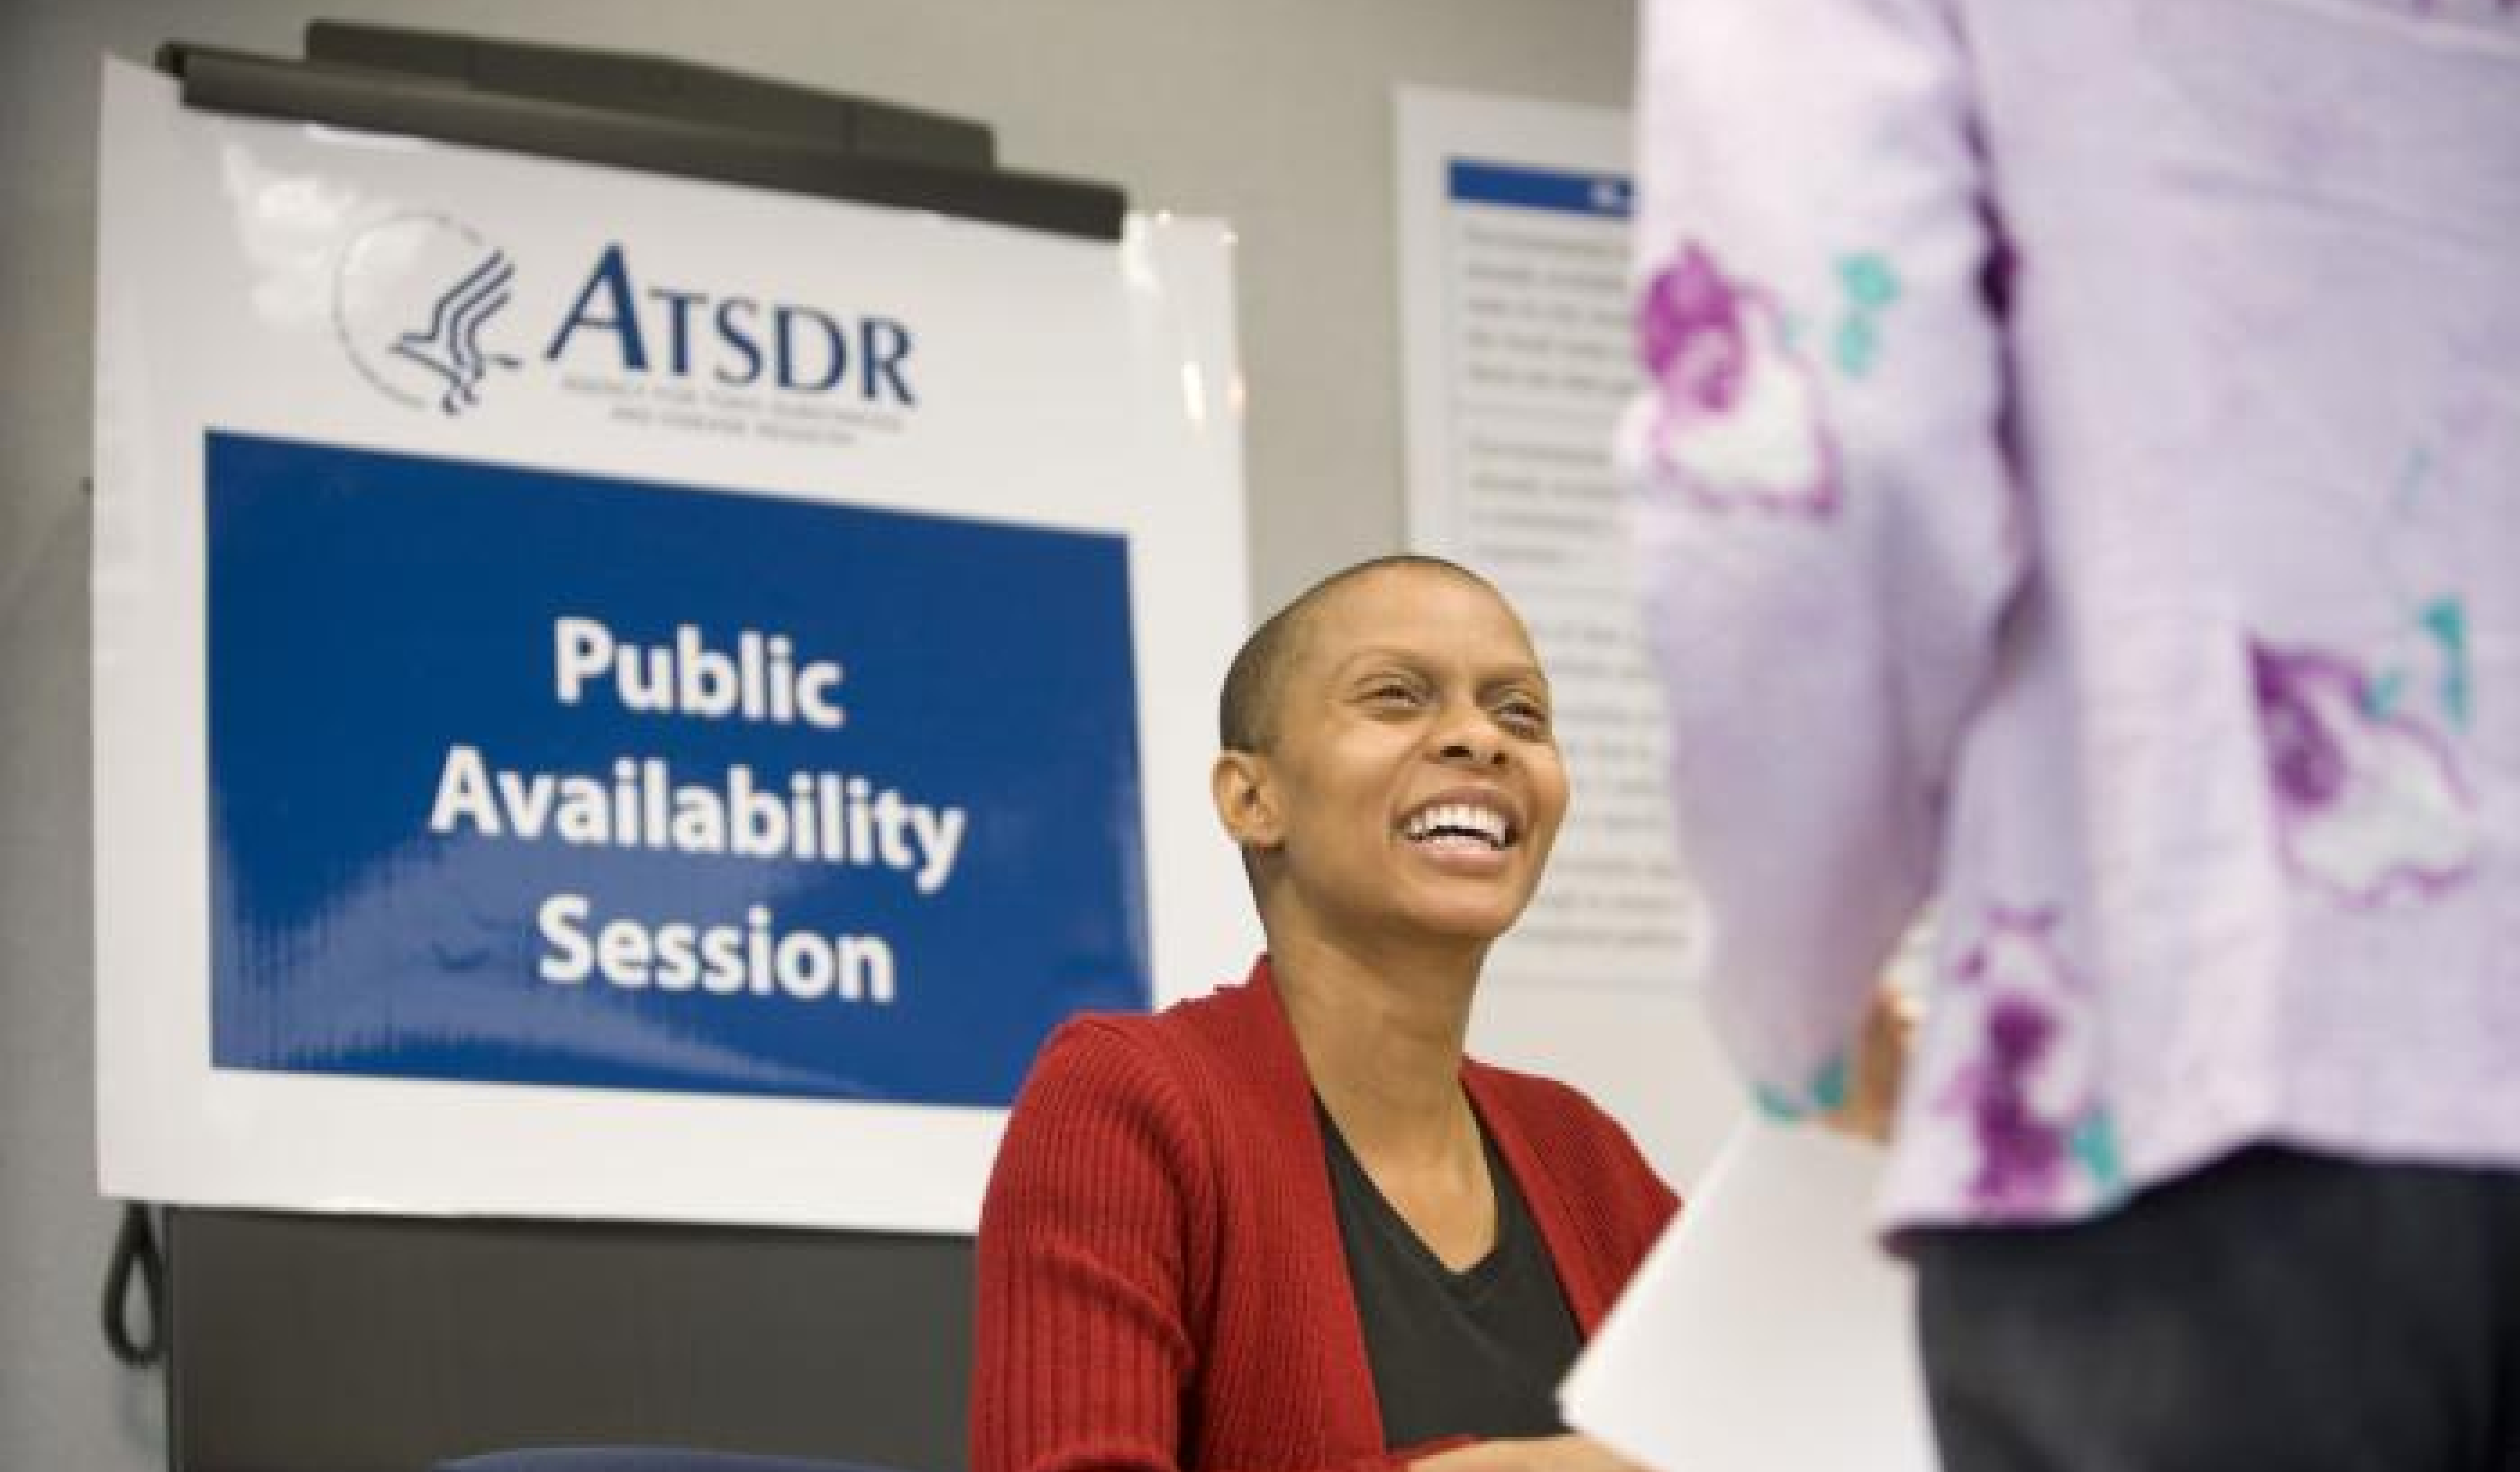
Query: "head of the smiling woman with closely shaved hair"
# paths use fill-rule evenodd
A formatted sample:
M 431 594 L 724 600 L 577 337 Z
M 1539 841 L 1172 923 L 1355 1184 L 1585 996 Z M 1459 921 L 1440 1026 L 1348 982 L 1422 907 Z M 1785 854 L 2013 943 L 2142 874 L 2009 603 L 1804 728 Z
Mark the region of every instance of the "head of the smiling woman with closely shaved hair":
M 1257 741 L 1237 744 L 1242 716 L 1225 716 L 1215 799 L 1270 955 L 1303 973 L 1320 948 L 1378 975 L 1431 970 L 1446 980 L 1414 991 L 1459 991 L 1467 1026 L 1479 963 L 1540 887 L 1567 807 L 1522 620 L 1467 570 L 1373 562 L 1290 605 L 1245 658 L 1273 665 L 1242 691 L 1268 703 Z M 1489 827 L 1499 842 L 1459 842 Z

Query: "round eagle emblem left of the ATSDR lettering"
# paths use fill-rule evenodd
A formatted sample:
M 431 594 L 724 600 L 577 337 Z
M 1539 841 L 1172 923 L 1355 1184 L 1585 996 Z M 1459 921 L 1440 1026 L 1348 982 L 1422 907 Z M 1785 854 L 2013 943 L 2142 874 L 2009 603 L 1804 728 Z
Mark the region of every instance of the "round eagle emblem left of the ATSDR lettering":
M 484 345 L 507 308 L 514 262 L 446 214 L 396 214 L 350 237 L 333 277 L 333 330 L 360 376 L 411 408 L 464 413 L 491 368 Z

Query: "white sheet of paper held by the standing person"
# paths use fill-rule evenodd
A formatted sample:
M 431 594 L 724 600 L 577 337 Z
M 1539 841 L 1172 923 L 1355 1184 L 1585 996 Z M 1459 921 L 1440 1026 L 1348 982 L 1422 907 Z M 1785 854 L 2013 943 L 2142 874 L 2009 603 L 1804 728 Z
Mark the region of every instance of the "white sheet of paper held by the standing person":
M 1744 1122 L 1560 1386 L 1567 1424 L 1656 1472 L 1935 1472 L 1880 1170 L 1877 1147 Z

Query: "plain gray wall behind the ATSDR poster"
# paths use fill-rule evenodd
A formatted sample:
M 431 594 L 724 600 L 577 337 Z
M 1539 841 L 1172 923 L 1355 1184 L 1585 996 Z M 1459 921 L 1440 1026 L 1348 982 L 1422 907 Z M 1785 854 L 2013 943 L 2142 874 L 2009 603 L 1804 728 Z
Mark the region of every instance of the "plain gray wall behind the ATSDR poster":
M 96 58 L 312 15 L 655 50 L 998 124 L 1011 166 L 1240 229 L 1252 585 L 1401 537 L 1391 86 L 1623 103 L 1628 0 L 0 0 L 0 1467 L 164 1462 L 96 1331 L 88 340 Z

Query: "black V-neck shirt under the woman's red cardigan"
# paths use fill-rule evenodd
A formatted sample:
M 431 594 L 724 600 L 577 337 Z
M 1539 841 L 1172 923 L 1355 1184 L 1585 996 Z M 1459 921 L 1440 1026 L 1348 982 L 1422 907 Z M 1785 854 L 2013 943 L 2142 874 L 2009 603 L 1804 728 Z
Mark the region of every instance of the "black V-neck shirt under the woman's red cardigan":
M 1575 1364 L 1583 1333 L 1487 1124 L 1479 1124 L 1479 1147 L 1497 1190 L 1497 1245 L 1454 1273 L 1383 1200 L 1331 1112 L 1318 1099 L 1313 1107 L 1373 1364 L 1373 1399 L 1383 1412 L 1383 1449 L 1459 1434 L 1565 1432 L 1557 1381 Z

